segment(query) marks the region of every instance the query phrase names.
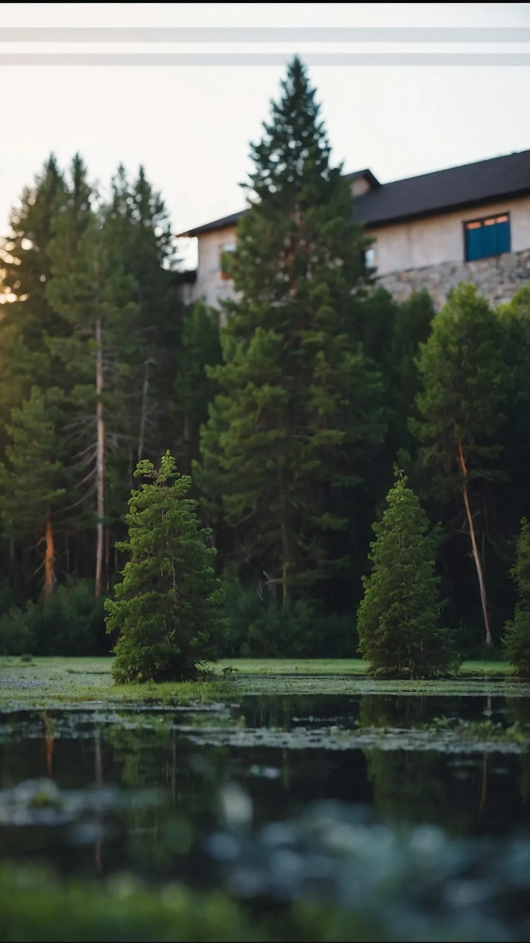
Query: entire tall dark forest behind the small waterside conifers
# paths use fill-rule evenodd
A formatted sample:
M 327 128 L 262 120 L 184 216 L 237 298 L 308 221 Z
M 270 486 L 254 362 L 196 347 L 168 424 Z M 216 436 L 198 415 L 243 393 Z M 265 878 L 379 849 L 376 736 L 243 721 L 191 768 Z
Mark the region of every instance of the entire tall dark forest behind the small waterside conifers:
M 51 157 L 11 217 L 0 313 L 0 652 L 104 653 L 142 458 L 191 472 L 217 549 L 222 653 L 356 654 L 356 608 L 394 466 L 441 521 L 445 624 L 498 646 L 528 516 L 530 289 L 397 304 L 306 72 L 290 65 L 224 259 L 237 300 L 185 307 L 142 170 L 108 197 Z

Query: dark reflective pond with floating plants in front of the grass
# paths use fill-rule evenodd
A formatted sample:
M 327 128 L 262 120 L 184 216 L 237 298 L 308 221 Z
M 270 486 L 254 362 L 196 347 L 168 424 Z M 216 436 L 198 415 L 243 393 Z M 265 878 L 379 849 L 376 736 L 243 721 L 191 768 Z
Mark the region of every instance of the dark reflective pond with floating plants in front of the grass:
M 431 898 L 455 885 L 443 910 L 460 907 L 456 931 L 458 893 L 478 919 L 461 938 L 486 938 L 487 927 L 488 938 L 527 938 L 530 699 L 491 687 L 237 697 L 235 685 L 231 703 L 8 711 L 0 857 L 67 877 L 126 872 L 246 901 L 310 895 L 375 909 L 383 877 L 387 888 L 407 873 L 394 926 L 423 912 L 415 895 L 428 872 Z M 426 932 L 403 925 L 403 938 Z

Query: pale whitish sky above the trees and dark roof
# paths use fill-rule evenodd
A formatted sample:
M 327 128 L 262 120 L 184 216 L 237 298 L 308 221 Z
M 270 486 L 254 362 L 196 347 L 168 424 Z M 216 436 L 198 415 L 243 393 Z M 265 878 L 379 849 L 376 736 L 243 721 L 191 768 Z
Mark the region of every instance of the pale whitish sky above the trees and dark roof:
M 4 26 L 54 25 L 530 27 L 530 4 L 2 3 L 0 54 L 75 51 L 65 43 L 2 42 Z M 105 51 L 119 48 L 107 45 Z M 183 48 L 158 43 L 141 52 Z M 240 45 L 238 52 L 253 48 Z M 268 48 L 285 51 L 287 61 L 315 47 L 298 42 Z M 458 51 L 472 48 L 460 44 Z M 512 49 L 530 53 L 530 42 L 497 45 L 495 51 Z M 188 45 L 186 51 L 206 47 Z M 365 44 L 362 51 L 380 52 L 381 46 Z M 250 168 L 249 141 L 257 140 L 269 117 L 285 68 L 0 65 L 0 73 L 0 234 L 8 232 L 9 207 L 51 151 L 61 166 L 79 151 L 91 177 L 104 186 L 120 162 L 130 173 L 142 163 L 179 232 L 244 206 L 238 184 Z M 315 66 L 309 74 L 333 158 L 344 161 L 345 171 L 368 167 L 387 182 L 530 149 L 530 66 Z M 193 265 L 194 245 L 183 244 L 181 251 Z

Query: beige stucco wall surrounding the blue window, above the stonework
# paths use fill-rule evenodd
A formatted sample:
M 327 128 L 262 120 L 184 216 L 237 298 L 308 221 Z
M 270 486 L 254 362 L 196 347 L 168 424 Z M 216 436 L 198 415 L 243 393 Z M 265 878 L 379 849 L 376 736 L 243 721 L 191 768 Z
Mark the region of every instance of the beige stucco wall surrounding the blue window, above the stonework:
M 443 216 L 367 229 L 373 244 L 377 273 L 422 269 L 443 262 L 464 261 L 464 223 L 485 216 L 510 214 L 511 250 L 530 249 L 530 197 L 504 200 Z

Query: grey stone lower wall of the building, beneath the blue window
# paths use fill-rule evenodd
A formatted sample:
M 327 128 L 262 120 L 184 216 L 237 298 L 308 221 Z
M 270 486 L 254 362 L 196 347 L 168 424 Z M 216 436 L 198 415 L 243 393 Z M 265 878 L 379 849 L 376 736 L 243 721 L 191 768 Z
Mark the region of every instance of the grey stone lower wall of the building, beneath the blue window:
M 443 306 L 451 289 L 460 282 L 472 282 L 490 305 L 503 305 L 530 282 L 530 249 L 476 262 L 441 262 L 422 269 L 390 272 L 379 276 L 377 282 L 389 290 L 396 301 L 405 301 L 413 291 L 426 289 L 437 310 Z

